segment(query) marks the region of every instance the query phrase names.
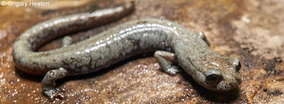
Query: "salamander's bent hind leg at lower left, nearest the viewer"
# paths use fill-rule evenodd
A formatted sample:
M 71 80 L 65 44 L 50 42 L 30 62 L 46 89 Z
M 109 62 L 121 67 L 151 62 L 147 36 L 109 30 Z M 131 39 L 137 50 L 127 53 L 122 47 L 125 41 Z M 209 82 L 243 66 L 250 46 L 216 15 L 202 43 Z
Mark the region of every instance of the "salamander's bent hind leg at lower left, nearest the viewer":
M 68 71 L 60 68 L 48 71 L 44 76 L 44 79 L 42 80 L 42 90 L 44 91 L 44 94 L 51 99 L 51 101 L 54 101 L 55 98 L 64 98 L 60 89 L 55 88 L 55 80 L 64 78 L 68 75 Z

